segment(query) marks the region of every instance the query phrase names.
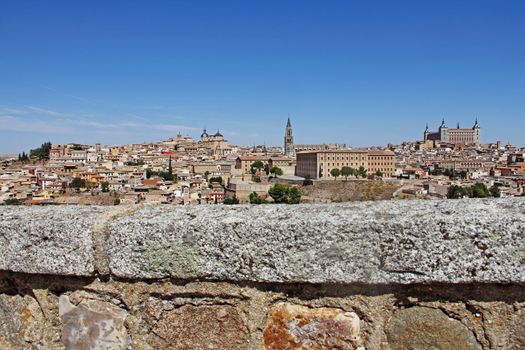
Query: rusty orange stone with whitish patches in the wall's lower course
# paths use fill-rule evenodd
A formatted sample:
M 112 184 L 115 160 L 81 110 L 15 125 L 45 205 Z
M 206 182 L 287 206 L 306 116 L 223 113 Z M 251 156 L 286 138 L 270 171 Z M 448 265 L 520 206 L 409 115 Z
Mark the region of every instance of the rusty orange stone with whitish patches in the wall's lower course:
M 334 308 L 276 305 L 264 329 L 267 350 L 349 350 L 360 344 L 359 317 Z

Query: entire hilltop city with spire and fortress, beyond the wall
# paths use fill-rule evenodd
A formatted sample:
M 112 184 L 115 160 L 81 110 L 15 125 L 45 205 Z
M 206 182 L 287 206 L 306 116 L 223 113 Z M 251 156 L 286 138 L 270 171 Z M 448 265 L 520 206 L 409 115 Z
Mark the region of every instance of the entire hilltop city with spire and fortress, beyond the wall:
M 482 143 L 481 126 L 427 125 L 386 147 L 232 145 L 219 130 L 123 146 L 42 144 L 1 160 L 0 203 L 237 204 L 523 196 L 525 149 Z

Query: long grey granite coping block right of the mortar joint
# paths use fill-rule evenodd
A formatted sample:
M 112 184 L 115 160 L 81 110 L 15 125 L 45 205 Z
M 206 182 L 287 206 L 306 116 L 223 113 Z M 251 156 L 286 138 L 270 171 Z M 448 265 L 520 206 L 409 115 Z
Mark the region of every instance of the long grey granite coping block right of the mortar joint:
M 108 223 L 112 274 L 308 283 L 525 282 L 525 200 L 144 207 Z

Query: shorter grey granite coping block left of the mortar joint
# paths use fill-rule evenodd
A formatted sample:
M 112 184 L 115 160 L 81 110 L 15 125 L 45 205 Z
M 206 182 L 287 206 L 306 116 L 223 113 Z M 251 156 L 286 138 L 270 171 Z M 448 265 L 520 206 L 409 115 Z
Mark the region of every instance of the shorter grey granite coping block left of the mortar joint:
M 0 270 L 92 275 L 92 228 L 102 212 L 93 207 L 1 208 Z

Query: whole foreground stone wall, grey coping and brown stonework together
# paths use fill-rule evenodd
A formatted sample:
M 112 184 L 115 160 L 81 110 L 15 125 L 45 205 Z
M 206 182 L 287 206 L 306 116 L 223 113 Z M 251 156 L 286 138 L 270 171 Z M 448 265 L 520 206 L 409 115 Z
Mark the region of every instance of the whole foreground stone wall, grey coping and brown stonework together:
M 0 349 L 523 349 L 525 200 L 0 208 Z

